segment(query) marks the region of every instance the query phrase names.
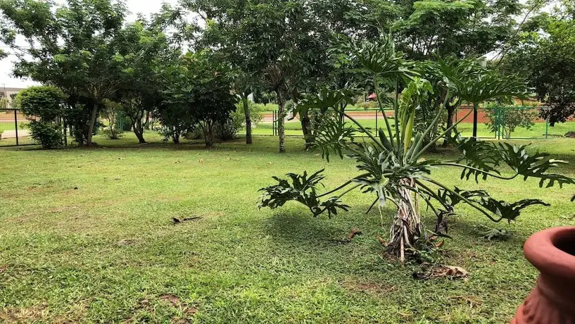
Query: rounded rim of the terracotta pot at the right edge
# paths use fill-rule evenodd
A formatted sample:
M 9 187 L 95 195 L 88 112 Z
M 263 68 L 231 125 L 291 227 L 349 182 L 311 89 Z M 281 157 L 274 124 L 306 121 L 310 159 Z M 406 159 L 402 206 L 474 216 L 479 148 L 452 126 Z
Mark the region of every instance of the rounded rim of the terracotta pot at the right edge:
M 525 257 L 543 274 L 573 278 L 575 256 L 557 247 L 557 243 L 565 239 L 571 239 L 575 244 L 575 226 L 549 228 L 536 232 L 525 242 Z

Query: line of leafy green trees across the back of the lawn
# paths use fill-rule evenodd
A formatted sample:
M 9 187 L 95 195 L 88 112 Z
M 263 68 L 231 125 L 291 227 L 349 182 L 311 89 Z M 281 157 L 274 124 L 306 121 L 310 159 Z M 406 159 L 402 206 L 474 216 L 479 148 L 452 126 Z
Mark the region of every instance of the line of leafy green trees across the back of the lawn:
M 517 74 L 552 106 L 543 117 L 555 123 L 575 113 L 574 9 L 568 1 L 182 0 L 135 22 L 113 0 L 63 6 L 0 0 L 0 12 L 1 41 L 18 55 L 14 74 L 62 92 L 65 108 L 56 118 L 72 126 L 78 144 L 93 144 L 101 114 L 121 111 L 141 143 L 153 118 L 174 142 L 201 132 L 211 146 L 215 137 L 227 137 L 236 105 L 250 144 L 257 118 L 249 98 L 272 94 L 279 106 L 279 151 L 285 150 L 288 101 L 310 147 L 324 112 L 299 104 L 305 94 L 379 89 L 379 100 L 391 106 L 393 94 L 403 91 L 405 82 L 385 78 L 374 87 L 360 62 L 335 50 L 348 39 L 377 42 L 388 34 L 394 51 L 436 88 L 418 109 L 421 127 L 425 116 L 445 109 L 449 128 L 457 106 L 476 108 L 488 99 L 447 92 L 442 85 L 449 77 L 472 85 Z M 488 62 L 478 60 L 482 56 Z

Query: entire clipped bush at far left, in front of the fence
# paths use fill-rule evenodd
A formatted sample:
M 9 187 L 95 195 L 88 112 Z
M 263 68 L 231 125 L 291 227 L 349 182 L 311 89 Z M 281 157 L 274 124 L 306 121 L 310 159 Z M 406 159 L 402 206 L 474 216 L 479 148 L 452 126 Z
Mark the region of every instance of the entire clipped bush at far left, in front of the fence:
M 46 86 L 28 87 L 16 96 L 20 110 L 30 120 L 28 127 L 32 138 L 44 149 L 62 145 L 62 127 L 57 119 L 63 116 L 64 99 L 60 89 Z

